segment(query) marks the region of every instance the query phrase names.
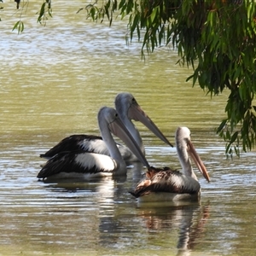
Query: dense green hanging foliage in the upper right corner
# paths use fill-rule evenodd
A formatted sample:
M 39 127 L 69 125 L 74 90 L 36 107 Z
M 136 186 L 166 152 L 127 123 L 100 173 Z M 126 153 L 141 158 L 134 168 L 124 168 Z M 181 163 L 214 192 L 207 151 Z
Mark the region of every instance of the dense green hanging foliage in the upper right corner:
M 198 83 L 211 96 L 230 90 L 226 118 L 217 133 L 226 153 L 240 154 L 256 143 L 256 10 L 252 0 L 103 0 L 85 7 L 93 20 L 113 22 L 128 15 L 130 38 L 143 38 L 144 50 L 172 44 L 179 63 L 193 67 Z M 143 34 L 143 37 L 142 37 Z

